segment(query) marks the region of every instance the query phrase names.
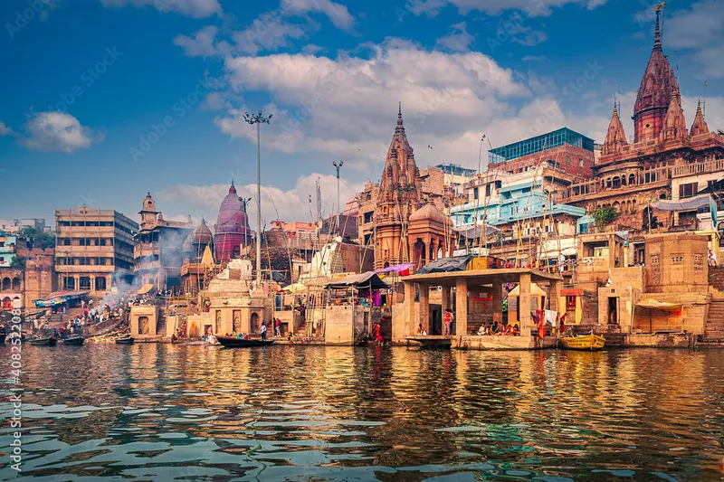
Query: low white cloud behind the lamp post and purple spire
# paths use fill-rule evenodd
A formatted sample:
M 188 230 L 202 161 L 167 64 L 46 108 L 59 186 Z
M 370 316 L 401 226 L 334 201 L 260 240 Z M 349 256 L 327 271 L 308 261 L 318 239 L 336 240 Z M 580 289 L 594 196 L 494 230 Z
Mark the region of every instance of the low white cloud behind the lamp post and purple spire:
M 345 162 L 345 167 L 347 165 L 348 163 Z M 322 192 L 322 212 L 324 214 L 336 213 L 337 177 L 320 174 L 303 175 L 297 179 L 296 185 L 292 189 L 286 191 L 269 184 L 262 184 L 262 223 L 268 227 L 269 223 L 275 219 L 310 222 L 310 207 L 312 212 L 316 210 L 316 204 L 310 206 L 310 195 L 314 203 L 318 178 Z M 348 198 L 356 195 L 361 187 L 361 184 L 340 183 L 341 203 L 344 204 Z M 252 229 L 256 229 L 256 184 L 237 185 L 236 191 L 242 198 L 252 198 L 248 209 L 249 224 Z M 174 209 L 178 210 L 177 213 L 165 215 L 167 219 L 180 218 L 183 213 L 196 213 L 195 217 L 204 216 L 206 221 L 213 226 L 219 206 L 228 192 L 228 184 L 181 184 L 160 191 L 154 194 L 154 197 L 157 201 L 171 204 Z

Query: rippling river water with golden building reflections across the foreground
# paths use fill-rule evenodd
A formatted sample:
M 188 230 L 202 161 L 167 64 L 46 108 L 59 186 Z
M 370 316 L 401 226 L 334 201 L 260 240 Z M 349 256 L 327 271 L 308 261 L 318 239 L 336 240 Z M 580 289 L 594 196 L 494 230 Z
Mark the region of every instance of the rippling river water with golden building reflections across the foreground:
M 23 472 L 5 421 L 2 480 L 724 480 L 718 351 L 24 346 L 23 363 Z

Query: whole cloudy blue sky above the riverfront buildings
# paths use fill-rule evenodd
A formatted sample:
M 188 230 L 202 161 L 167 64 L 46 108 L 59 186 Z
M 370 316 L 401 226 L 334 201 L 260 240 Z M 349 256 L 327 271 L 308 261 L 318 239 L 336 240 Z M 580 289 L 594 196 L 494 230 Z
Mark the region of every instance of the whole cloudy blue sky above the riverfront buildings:
M 214 221 L 233 179 L 264 222 L 309 221 L 376 181 L 402 101 L 418 165 L 477 167 L 493 146 L 566 125 L 626 134 L 653 44 L 643 0 L 6 0 L 0 4 L 0 219 L 83 203 Z M 666 4 L 664 52 L 687 121 L 707 87 L 724 128 L 724 2 Z M 433 149 L 427 148 L 433 146 Z M 485 146 L 487 147 L 487 145 Z M 483 151 L 483 158 L 485 157 Z M 253 222 L 252 219 L 252 227 Z

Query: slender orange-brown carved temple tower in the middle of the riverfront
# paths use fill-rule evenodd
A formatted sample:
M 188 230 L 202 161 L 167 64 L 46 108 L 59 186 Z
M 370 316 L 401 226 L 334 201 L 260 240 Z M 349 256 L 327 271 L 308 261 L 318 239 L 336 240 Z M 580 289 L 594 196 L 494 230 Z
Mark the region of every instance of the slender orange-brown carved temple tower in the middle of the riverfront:
M 422 204 L 421 193 L 420 170 L 414 163 L 413 148 L 407 142 L 400 104 L 376 198 L 376 268 L 411 260 L 408 222 L 410 214 Z

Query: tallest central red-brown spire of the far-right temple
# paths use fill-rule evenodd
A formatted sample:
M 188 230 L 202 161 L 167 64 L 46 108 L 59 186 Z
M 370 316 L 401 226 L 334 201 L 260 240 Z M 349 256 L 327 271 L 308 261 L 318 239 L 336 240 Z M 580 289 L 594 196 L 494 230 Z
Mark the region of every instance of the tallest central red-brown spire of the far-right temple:
M 656 30 L 651 58 L 643 71 L 636 103 L 633 105 L 633 142 L 655 140 L 664 128 L 672 93 L 679 91 L 669 59 L 662 51 L 660 16 L 663 4 L 656 7 Z

